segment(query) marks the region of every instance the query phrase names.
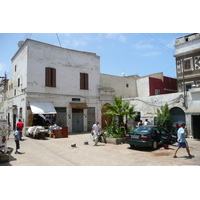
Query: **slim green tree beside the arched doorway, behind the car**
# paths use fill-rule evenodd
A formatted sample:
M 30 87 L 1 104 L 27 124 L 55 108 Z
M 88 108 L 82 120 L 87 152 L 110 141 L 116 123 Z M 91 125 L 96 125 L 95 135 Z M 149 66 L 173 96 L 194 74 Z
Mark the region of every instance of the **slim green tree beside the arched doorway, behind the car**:
M 169 107 L 167 103 L 164 106 L 161 106 L 160 109 L 157 109 L 157 117 L 156 117 L 155 124 L 169 131 L 172 130 L 173 124 L 171 121 L 171 115 L 170 115 Z

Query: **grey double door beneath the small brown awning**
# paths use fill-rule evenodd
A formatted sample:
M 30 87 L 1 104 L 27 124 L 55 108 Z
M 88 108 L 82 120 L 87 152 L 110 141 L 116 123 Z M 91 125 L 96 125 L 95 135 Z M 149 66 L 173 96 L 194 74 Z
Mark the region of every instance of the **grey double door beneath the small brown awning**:
M 83 130 L 83 109 L 72 108 L 72 132 Z

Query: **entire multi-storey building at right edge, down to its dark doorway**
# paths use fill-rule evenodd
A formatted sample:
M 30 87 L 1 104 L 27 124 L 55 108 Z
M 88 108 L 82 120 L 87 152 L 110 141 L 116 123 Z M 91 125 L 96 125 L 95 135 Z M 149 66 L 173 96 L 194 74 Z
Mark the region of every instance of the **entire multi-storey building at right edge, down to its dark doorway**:
M 194 138 L 200 138 L 200 33 L 175 41 L 178 90 L 184 94 L 188 126 Z

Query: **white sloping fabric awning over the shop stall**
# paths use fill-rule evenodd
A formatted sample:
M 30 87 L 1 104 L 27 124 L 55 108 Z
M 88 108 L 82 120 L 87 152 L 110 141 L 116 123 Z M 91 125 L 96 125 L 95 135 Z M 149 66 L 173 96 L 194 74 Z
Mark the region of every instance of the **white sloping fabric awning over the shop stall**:
M 50 102 L 30 102 L 33 114 L 56 114 L 56 110 Z

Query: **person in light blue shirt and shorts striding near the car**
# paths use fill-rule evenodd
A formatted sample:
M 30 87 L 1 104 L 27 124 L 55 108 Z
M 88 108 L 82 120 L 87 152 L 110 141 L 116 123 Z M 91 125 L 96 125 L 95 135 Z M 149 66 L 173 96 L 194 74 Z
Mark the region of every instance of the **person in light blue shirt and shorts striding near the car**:
M 176 150 L 174 152 L 173 158 L 177 158 L 176 154 L 177 154 L 177 152 L 178 152 L 178 150 L 180 148 L 186 148 L 186 151 L 188 153 L 189 158 L 194 157 L 194 155 L 191 155 L 188 143 L 187 143 L 187 141 L 185 139 L 185 126 L 186 126 L 185 123 L 183 123 L 183 124 L 181 124 L 181 127 L 178 129 L 178 132 L 177 132 L 178 145 L 177 145 L 177 148 L 176 148 Z

